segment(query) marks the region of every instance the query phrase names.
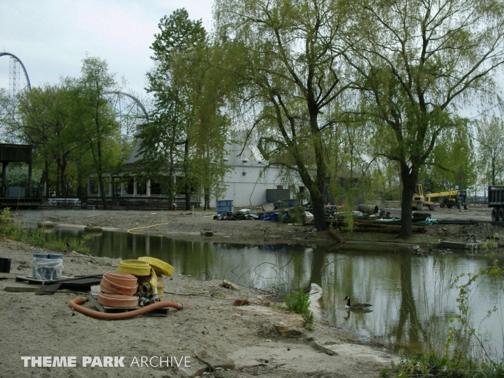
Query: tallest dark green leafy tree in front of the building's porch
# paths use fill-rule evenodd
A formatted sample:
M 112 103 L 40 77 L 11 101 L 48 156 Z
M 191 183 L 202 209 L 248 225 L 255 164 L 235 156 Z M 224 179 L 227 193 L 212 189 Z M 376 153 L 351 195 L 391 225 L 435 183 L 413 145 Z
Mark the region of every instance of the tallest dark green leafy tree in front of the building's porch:
M 191 196 L 188 129 L 194 113 L 185 56 L 205 44 L 206 31 L 201 20 L 189 19 L 185 9 L 164 16 L 158 27 L 160 33 L 154 35 L 151 46 L 154 68 L 147 73 L 147 91 L 154 95 L 154 110 L 151 121 L 139 135 L 142 158 L 138 165 L 144 175 L 160 183 L 170 202 L 176 194 L 175 169 L 181 167 L 188 208 Z

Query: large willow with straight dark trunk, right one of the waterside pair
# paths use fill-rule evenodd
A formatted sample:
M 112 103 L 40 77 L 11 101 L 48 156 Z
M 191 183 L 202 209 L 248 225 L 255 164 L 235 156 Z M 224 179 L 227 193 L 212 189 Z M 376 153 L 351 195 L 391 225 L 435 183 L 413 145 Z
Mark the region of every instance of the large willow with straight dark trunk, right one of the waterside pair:
M 438 136 L 455 129 L 465 100 L 494 97 L 504 62 L 504 3 L 485 0 L 366 0 L 347 4 L 349 63 L 358 72 L 382 154 L 400 165 L 401 236 L 411 236 L 420 168 Z M 471 103 L 472 104 L 472 103 Z

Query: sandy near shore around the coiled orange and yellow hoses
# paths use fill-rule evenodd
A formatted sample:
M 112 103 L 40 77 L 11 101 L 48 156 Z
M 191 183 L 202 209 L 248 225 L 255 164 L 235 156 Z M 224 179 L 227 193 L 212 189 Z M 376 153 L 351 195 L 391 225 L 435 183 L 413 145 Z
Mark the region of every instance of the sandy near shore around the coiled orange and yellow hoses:
M 0 240 L 0 257 L 12 260 L 12 272 L 31 273 L 36 248 Z M 105 273 L 117 260 L 90 259 L 65 254 L 64 275 Z M 167 317 L 141 316 L 130 320 L 97 320 L 68 307 L 79 294 L 53 295 L 8 292 L 9 287 L 37 287 L 14 279 L 0 280 L 0 376 L 30 377 L 184 377 L 201 368 L 205 358 L 230 358 L 233 370 L 217 370 L 215 377 L 261 375 L 265 377 L 379 376 L 395 358 L 383 348 L 344 341 L 345 335 L 323 323 L 313 332 L 302 327 L 299 316 L 261 303 L 274 301 L 269 293 L 248 287 L 231 290 L 221 281 L 200 281 L 175 274 L 165 278 L 164 299 L 182 303 L 182 310 Z M 249 306 L 237 307 L 236 299 Z M 94 308 L 90 303 L 86 307 Z M 24 367 L 23 356 L 74 356 L 76 367 Z M 83 357 L 124 357 L 124 367 L 84 367 Z M 137 366 L 141 357 L 188 356 L 190 369 Z M 98 362 L 96 362 L 98 363 Z M 103 363 L 103 362 L 102 362 Z M 133 365 L 132 365 L 133 363 Z M 204 366 L 206 367 L 206 366 Z M 205 374 L 207 375 L 207 374 Z

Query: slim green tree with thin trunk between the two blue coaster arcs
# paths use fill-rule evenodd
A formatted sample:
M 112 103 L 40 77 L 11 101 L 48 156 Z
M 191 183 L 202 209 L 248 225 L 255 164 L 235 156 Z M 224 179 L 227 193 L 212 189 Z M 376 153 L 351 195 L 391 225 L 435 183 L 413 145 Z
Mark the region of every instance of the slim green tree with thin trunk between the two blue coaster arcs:
M 75 122 L 90 152 L 103 208 L 107 209 L 103 173 L 114 171 L 121 163 L 119 124 L 109 103 L 108 93 L 116 91 L 114 74 L 108 70 L 106 60 L 87 56 L 82 61 L 74 99 Z

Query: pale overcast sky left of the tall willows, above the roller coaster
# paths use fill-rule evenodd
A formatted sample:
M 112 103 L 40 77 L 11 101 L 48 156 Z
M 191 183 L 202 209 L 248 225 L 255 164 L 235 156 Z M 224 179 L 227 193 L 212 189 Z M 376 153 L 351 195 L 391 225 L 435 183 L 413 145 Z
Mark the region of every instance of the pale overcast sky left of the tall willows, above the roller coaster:
M 212 0 L 0 0 L 0 51 L 16 55 L 30 83 L 56 84 L 60 76 L 79 77 L 82 59 L 106 59 L 120 81 L 146 97 L 145 74 L 151 68 L 159 20 L 185 8 L 209 31 Z M 9 87 L 8 56 L 0 57 L 0 88 Z M 24 85 L 22 77 L 21 85 Z

